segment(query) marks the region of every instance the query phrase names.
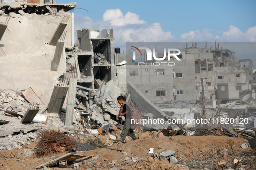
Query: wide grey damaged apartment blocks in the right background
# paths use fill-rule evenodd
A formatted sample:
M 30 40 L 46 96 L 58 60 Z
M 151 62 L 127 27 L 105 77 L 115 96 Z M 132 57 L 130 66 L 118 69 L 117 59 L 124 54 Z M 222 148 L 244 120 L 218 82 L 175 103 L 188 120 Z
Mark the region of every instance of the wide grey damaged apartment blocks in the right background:
M 161 58 L 163 54 L 157 56 Z M 124 59 L 122 54 L 118 57 Z M 192 103 L 200 100 L 202 87 L 206 98 L 220 98 L 223 101 L 240 100 L 248 94 L 243 91 L 252 89 L 253 61 L 237 60 L 235 52 L 231 50 L 200 48 L 195 43 L 195 46 L 192 44 L 192 47 L 181 50 L 178 57 L 181 61 L 171 58 L 176 60 L 174 66 L 138 66 L 138 63 L 128 60 L 128 65 L 117 66 L 117 79 L 122 79 L 118 83 L 121 88 L 126 88 L 125 81 L 133 82 L 151 101 Z M 230 94 L 225 99 L 223 91 L 219 89 L 222 84 L 229 87 L 226 87 L 225 93 Z

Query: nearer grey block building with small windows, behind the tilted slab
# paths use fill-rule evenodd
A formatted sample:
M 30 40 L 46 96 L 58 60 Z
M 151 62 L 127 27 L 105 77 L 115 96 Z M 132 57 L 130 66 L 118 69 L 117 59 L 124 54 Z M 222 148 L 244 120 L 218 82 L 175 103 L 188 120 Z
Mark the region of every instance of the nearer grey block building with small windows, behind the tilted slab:
M 195 86 L 191 85 L 195 84 L 193 54 L 182 51 L 182 55 L 182 60 L 175 61 L 174 66 L 138 66 L 138 63 L 117 66 L 116 83 L 125 91 L 126 82 L 132 82 L 151 101 L 174 100 L 175 94 L 178 101 L 195 102 Z

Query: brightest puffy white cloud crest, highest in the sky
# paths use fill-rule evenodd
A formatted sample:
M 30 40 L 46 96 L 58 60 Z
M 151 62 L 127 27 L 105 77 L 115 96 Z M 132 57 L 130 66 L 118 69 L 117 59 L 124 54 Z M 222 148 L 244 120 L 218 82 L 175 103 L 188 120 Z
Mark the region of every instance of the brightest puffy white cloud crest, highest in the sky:
M 127 24 L 146 24 L 146 21 L 139 19 L 136 13 L 127 12 L 125 16 L 120 9 L 107 9 L 103 14 L 103 21 L 108 21 L 112 26 L 123 26 Z

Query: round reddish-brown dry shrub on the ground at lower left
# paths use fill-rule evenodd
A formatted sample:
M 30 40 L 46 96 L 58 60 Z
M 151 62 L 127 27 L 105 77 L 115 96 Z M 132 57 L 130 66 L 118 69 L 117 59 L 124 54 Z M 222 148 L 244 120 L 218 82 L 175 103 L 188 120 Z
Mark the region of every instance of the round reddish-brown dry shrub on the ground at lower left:
M 76 140 L 58 130 L 48 129 L 37 132 L 36 153 L 38 156 L 46 156 L 53 153 L 60 153 L 75 150 Z

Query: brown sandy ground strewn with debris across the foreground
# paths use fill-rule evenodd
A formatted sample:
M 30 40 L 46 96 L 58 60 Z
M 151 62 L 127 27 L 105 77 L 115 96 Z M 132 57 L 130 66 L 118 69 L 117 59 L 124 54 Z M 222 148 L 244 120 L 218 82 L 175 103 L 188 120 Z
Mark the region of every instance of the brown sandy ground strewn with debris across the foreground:
M 242 162 L 238 167 L 243 167 L 246 170 L 256 169 L 256 151 L 251 147 L 243 149 L 240 147 L 245 142 L 244 138 L 232 138 L 227 136 L 173 136 L 174 140 L 169 137 L 160 136 L 156 139 L 143 138 L 136 141 L 128 141 L 123 145 L 116 145 L 109 148 L 123 149 L 122 152 L 109 150 L 107 148 L 97 148 L 91 151 L 81 151 L 80 153 L 97 154 L 97 157 L 92 157 L 85 161 L 78 161 L 79 169 L 84 170 L 91 167 L 93 170 L 113 169 L 118 170 L 220 170 L 217 162 L 222 158 L 220 152 L 224 148 L 227 149 L 230 160 L 242 158 Z M 230 145 L 235 145 L 230 148 Z M 52 154 L 46 157 L 36 157 L 31 155 L 23 158 L 24 149 L 33 149 L 36 143 L 26 145 L 20 149 L 10 151 L 0 151 L 0 169 L 10 170 L 33 170 L 35 167 L 51 161 L 57 157 L 67 154 L 59 153 Z M 152 159 L 152 154 L 148 154 L 149 148 L 154 148 L 154 153 L 160 154 L 163 151 L 173 150 L 177 152 L 176 158 L 178 164 L 170 164 L 164 159 Z M 126 154 L 127 156 L 126 156 Z M 125 157 L 129 157 L 128 161 L 124 161 Z M 130 159 L 134 157 L 139 162 L 132 162 Z M 142 161 L 147 159 L 147 161 Z M 137 164 L 138 163 L 138 164 Z M 182 166 L 183 165 L 183 166 Z M 69 162 L 67 168 L 72 169 L 74 162 Z M 52 169 L 60 169 L 57 166 Z M 84 169 L 83 169 L 84 168 Z

